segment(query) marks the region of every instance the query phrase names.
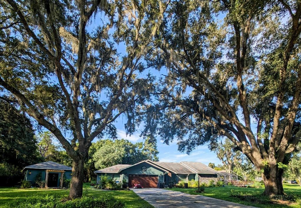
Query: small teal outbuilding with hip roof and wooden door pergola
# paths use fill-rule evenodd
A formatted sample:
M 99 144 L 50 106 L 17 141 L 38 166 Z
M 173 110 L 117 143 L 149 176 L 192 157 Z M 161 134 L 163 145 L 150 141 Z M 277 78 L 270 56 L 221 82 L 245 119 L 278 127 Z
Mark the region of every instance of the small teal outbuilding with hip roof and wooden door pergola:
M 72 168 L 56 162 L 48 161 L 34 165 L 29 165 L 24 168 L 25 178 L 32 185 L 36 183 L 36 178 L 39 173 L 42 173 L 41 181 L 45 181 L 45 188 L 48 187 L 63 187 L 63 178 L 71 179 Z

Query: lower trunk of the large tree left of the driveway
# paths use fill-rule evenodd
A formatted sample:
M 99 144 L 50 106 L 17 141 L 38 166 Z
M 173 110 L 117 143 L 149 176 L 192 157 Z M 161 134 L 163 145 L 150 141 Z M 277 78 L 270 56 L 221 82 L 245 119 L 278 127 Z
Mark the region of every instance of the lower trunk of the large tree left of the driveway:
M 72 178 L 70 184 L 69 198 L 82 197 L 82 185 L 84 182 L 84 159 L 73 160 Z

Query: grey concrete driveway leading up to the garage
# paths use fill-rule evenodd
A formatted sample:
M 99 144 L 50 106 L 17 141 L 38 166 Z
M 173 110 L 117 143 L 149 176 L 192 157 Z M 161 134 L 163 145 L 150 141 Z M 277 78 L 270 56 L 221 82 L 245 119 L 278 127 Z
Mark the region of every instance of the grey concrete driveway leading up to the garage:
M 181 207 L 181 208 L 200 208 L 200 207 L 231 207 L 231 208 L 254 208 L 233 202 L 204 197 L 201 195 L 185 194 L 178 191 L 170 191 L 159 188 L 132 189 L 139 197 L 150 203 L 156 208 Z

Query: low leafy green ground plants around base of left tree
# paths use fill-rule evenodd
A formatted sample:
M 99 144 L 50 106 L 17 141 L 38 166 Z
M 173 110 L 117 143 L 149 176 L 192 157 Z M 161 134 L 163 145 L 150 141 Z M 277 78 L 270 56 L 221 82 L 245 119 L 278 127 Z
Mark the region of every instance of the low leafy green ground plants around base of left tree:
M 84 196 L 70 201 L 62 201 L 56 195 L 33 195 L 13 200 L 3 206 L 3 208 L 123 208 L 124 206 L 123 202 L 109 195 L 97 198 Z

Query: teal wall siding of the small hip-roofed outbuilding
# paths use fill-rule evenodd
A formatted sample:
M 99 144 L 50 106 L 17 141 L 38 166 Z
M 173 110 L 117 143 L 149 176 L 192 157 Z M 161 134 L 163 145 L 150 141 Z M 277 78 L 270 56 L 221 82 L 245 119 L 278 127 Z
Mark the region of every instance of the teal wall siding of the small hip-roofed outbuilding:
M 29 172 L 31 174 L 29 174 Z M 42 173 L 42 181 L 46 181 L 45 177 L 46 177 L 46 170 L 45 169 L 26 169 L 25 171 L 25 178 L 24 180 L 29 181 L 32 185 L 35 185 L 35 181 L 36 181 L 36 176 L 39 174 L 39 172 Z M 49 173 L 52 173 L 51 171 Z M 57 173 L 57 172 L 53 172 L 53 173 Z M 71 179 L 71 173 L 72 171 L 70 170 L 66 170 L 64 172 L 64 175 L 66 177 L 66 179 Z M 61 173 L 58 173 L 58 181 L 57 181 L 57 187 L 60 186 L 60 180 L 61 180 Z

